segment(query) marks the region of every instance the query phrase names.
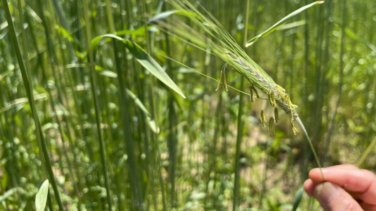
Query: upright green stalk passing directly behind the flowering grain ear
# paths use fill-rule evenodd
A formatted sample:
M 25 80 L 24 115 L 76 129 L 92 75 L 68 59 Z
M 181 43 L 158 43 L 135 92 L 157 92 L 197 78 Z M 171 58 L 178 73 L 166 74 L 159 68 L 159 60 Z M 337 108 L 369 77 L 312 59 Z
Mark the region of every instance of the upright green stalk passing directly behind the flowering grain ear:
M 247 33 L 248 33 L 248 19 L 249 19 L 249 3 L 250 0 L 247 0 L 246 5 L 246 15 L 244 18 L 244 34 L 243 34 L 243 49 L 246 48 L 247 43 Z M 241 76 L 240 78 L 240 90 L 242 91 L 244 87 L 244 77 Z M 240 181 L 240 172 L 239 172 L 239 165 L 240 165 L 240 145 L 241 139 L 243 136 L 243 122 L 241 120 L 241 116 L 243 115 L 243 93 L 239 93 L 239 108 L 238 108 L 238 121 L 237 121 L 237 139 L 236 139 L 236 148 L 235 148 L 235 181 L 234 181 L 234 188 L 233 188 L 233 204 L 232 210 L 237 211 L 239 208 L 239 181 Z

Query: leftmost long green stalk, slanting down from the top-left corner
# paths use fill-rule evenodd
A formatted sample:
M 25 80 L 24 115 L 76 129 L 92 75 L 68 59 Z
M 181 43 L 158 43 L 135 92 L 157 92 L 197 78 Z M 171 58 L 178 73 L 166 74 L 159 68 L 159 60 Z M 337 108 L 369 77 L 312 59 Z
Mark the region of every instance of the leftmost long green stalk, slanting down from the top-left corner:
M 53 171 L 52 171 L 52 165 L 51 165 L 50 157 L 49 157 L 49 154 L 48 154 L 47 143 L 44 139 L 42 126 L 41 126 L 41 123 L 39 121 L 39 117 L 38 117 L 38 113 L 37 113 L 37 109 L 36 109 L 36 104 L 35 104 L 35 99 L 34 99 L 34 94 L 33 94 L 33 88 L 32 88 L 31 73 L 29 73 L 29 75 L 27 74 L 26 66 L 24 64 L 24 59 L 23 59 L 23 56 L 21 54 L 20 45 L 19 45 L 18 40 L 17 40 L 17 35 L 16 35 L 15 27 L 14 27 L 12 16 L 11 16 L 11 11 L 9 9 L 8 0 L 3 0 L 3 5 L 4 5 L 4 8 L 5 8 L 5 16 L 6 16 L 6 19 L 7 19 L 7 22 L 8 22 L 9 33 L 11 34 L 11 37 L 12 37 L 12 42 L 13 42 L 15 53 L 16 53 L 16 56 L 17 56 L 18 65 L 20 67 L 22 79 L 23 79 L 24 86 L 25 86 L 25 89 L 26 89 L 27 98 L 29 100 L 30 108 L 31 108 L 31 111 L 33 113 L 36 134 L 37 134 L 37 137 L 39 139 L 39 142 L 42 145 L 42 152 L 43 152 L 43 156 L 44 156 L 45 168 L 47 169 L 47 172 L 49 173 L 49 179 L 51 181 L 53 190 L 55 192 L 55 198 L 56 198 L 56 202 L 59 205 L 59 211 L 64 211 L 63 204 L 62 204 L 60 194 L 59 194 L 59 190 L 58 190 L 58 185 L 56 183 L 55 176 L 54 176 Z

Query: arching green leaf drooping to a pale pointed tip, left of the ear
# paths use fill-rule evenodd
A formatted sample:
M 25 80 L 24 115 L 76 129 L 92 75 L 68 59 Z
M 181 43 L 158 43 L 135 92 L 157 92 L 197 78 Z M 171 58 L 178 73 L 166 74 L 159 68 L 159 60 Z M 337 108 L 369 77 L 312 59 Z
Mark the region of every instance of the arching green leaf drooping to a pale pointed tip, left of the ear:
M 143 48 L 141 48 L 136 43 L 123 39 L 115 34 L 103 34 L 91 41 L 92 51 L 94 55 L 94 61 L 96 60 L 97 48 L 100 40 L 105 37 L 114 38 L 124 43 L 124 45 L 128 48 L 128 50 L 133 54 L 136 58 L 138 63 L 140 63 L 145 69 L 147 69 L 150 73 L 152 73 L 156 78 L 159 79 L 162 83 L 170 87 L 172 90 L 176 91 L 180 94 L 183 98 L 185 98 L 184 94 L 180 90 L 179 87 L 174 83 L 174 81 L 168 76 L 168 74 L 162 69 L 162 67 L 156 62 Z

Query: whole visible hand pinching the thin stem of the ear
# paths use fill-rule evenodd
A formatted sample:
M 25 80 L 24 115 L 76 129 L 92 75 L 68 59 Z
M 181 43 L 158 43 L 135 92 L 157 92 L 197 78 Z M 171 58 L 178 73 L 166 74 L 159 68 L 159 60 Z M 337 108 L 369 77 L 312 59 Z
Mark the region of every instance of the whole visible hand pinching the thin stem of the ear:
M 354 165 L 312 169 L 304 190 L 325 211 L 376 211 L 376 175 Z

